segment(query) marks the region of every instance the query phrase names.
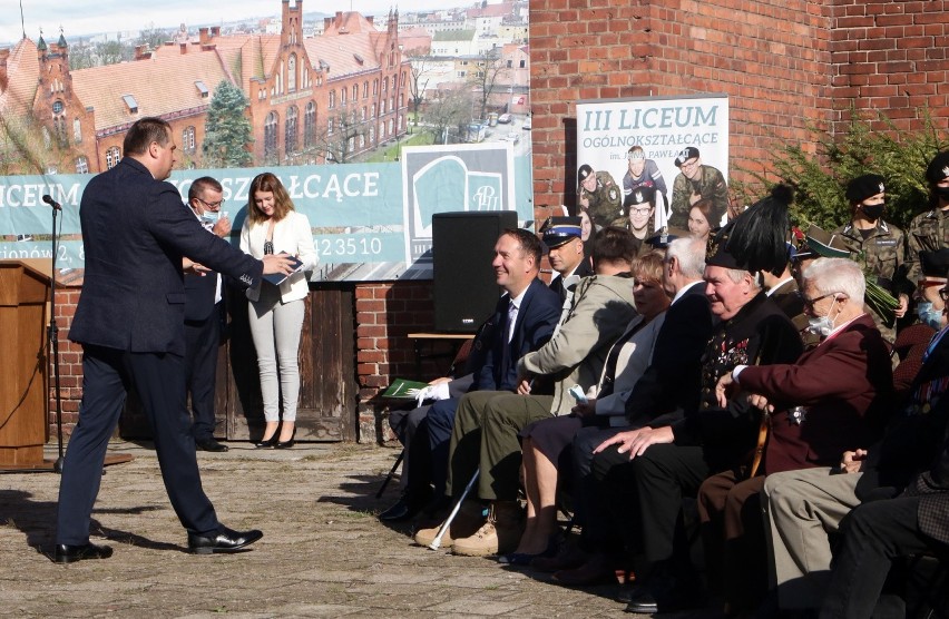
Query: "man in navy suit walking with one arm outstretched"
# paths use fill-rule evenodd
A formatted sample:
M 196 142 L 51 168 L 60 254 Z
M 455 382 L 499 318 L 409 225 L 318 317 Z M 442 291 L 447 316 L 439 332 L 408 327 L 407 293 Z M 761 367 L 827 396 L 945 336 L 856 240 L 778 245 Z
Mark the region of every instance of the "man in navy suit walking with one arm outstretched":
M 155 436 L 165 489 L 196 553 L 226 552 L 263 537 L 221 524 L 200 487 L 185 401 L 185 289 L 189 256 L 246 286 L 288 273 L 286 258 L 256 261 L 202 229 L 174 185 L 170 126 L 143 118 L 128 130 L 125 157 L 82 194 L 79 219 L 86 278 L 69 338 L 82 345 L 82 402 L 59 487 L 55 560 L 105 559 L 89 543 L 108 439 L 135 387 Z

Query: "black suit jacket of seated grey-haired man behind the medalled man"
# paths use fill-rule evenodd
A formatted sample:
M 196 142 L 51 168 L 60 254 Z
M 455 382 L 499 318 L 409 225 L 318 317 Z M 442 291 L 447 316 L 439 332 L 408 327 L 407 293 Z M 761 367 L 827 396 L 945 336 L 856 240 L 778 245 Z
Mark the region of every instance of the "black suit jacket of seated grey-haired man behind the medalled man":
M 698 407 L 699 358 L 712 337 L 712 324 L 705 284 L 698 282 L 666 311 L 653 361 L 626 400 L 630 424 L 644 425 L 661 414 Z

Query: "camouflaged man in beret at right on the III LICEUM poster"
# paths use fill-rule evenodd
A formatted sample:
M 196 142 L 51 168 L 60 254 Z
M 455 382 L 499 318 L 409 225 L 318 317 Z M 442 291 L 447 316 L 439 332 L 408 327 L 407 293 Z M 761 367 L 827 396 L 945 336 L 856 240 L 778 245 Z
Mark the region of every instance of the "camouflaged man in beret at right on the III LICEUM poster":
M 679 175 L 673 181 L 671 228 L 688 229 L 688 212 L 692 205 L 702 198 L 712 200 L 708 223 L 713 228 L 722 222 L 728 210 L 728 186 L 722 173 L 712 166 L 702 164 L 698 149 L 694 146 L 683 149 L 675 158 Z

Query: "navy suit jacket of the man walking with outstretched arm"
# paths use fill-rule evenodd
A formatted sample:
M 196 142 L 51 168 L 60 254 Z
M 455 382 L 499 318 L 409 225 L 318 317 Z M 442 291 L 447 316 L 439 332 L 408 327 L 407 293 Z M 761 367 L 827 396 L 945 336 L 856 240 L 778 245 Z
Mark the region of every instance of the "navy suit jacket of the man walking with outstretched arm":
M 86 279 L 69 338 L 134 353 L 185 354 L 182 257 L 254 286 L 263 264 L 182 208 L 178 190 L 131 157 L 89 181 L 79 209 Z

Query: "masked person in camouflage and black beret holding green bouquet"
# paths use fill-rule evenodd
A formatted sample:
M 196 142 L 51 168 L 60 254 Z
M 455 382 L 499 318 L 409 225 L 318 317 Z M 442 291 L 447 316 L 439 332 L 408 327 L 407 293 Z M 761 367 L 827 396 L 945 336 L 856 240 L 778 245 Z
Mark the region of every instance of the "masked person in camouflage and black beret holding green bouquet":
M 902 318 L 907 313 L 912 286 L 906 279 L 906 235 L 883 220 L 886 193 L 882 176 L 864 174 L 851 180 L 845 196 L 853 214 L 851 220 L 837 228 L 834 234 L 840 235 L 850 249 L 850 257 L 859 261 L 864 272 L 875 276 L 877 284 L 899 301 L 893 315 L 884 315 L 868 303 L 877 328 L 892 344 L 897 337 L 894 318 Z

